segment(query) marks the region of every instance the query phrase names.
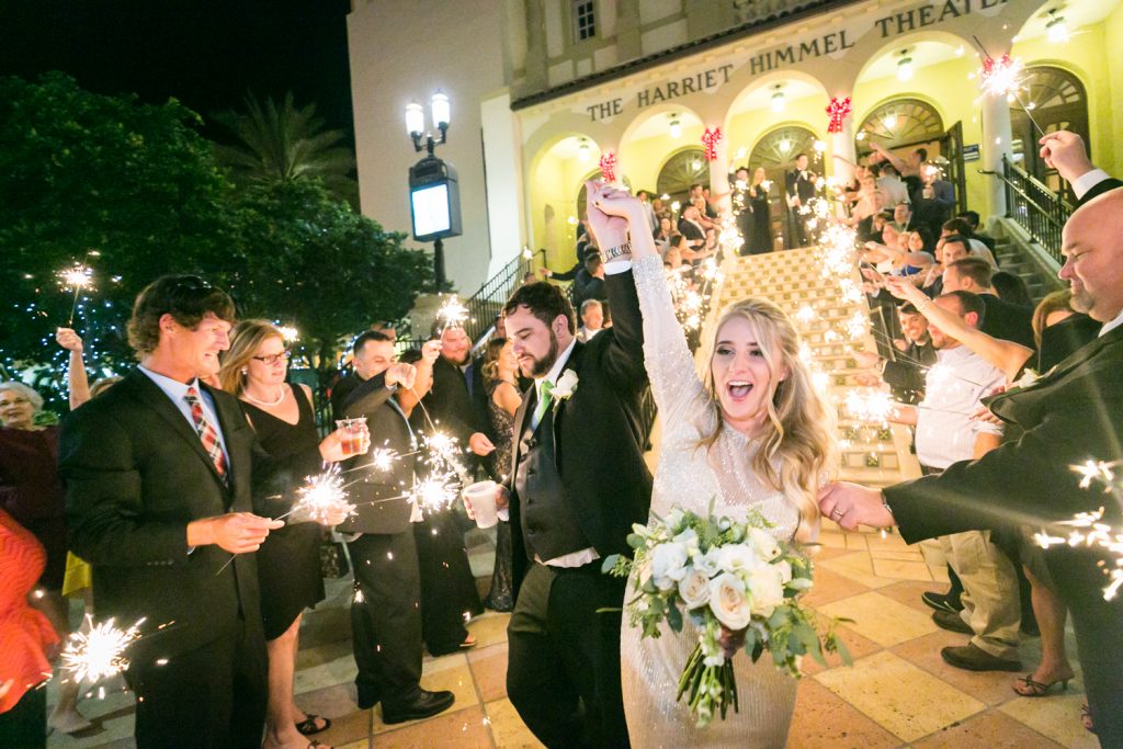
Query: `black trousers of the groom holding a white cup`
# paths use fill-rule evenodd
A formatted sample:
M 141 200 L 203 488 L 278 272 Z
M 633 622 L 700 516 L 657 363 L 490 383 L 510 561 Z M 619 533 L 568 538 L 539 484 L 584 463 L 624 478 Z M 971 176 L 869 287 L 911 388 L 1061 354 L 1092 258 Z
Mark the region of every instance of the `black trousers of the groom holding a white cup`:
M 506 692 L 550 749 L 630 746 L 620 693 L 626 582 L 602 575 L 600 560 L 532 564 L 522 582 L 508 625 Z

